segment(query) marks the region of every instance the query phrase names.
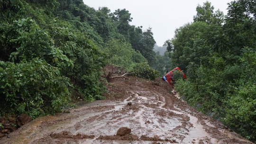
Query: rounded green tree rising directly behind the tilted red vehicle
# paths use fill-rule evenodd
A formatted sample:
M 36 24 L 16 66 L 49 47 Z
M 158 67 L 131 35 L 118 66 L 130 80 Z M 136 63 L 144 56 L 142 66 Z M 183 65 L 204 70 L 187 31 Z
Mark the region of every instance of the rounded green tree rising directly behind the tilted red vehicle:
M 206 30 L 205 22 L 186 24 L 175 30 L 174 38 L 165 42 L 167 50 L 168 47 L 173 50 L 170 54 L 174 66 L 185 71 L 189 63 L 201 64 L 207 61 L 205 56 L 209 54 L 210 48 L 205 45 L 203 37 Z

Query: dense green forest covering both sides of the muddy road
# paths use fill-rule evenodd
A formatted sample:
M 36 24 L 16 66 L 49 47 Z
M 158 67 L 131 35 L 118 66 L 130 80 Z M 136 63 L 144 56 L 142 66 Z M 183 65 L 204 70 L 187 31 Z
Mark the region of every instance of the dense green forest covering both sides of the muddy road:
M 75 99 L 104 99 L 107 64 L 151 80 L 180 67 L 188 79 L 175 76 L 179 94 L 255 142 L 255 8 L 255 0 L 234 0 L 225 16 L 206 1 L 160 55 L 151 27 L 130 25 L 127 9 L 96 10 L 82 0 L 0 0 L 0 117 L 36 118 Z

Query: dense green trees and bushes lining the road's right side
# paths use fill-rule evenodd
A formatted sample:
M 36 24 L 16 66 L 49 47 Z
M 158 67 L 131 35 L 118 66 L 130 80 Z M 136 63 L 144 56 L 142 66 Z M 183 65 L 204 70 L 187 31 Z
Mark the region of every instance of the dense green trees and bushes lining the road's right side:
M 214 18 L 210 3 L 204 3 L 196 9 L 195 22 L 177 29 L 166 45 L 174 52 L 172 64 L 187 72 L 187 81 L 176 81 L 179 94 L 201 112 L 256 142 L 254 8 L 251 0 L 232 1 L 222 23 Z

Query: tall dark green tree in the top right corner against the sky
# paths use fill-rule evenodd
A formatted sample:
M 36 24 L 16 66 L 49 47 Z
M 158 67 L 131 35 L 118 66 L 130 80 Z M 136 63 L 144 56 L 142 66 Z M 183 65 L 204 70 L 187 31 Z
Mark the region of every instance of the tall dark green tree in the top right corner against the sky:
M 255 3 L 252 2 L 251 4 Z M 251 18 L 252 15 L 248 15 L 248 13 L 252 14 L 251 11 L 248 11 L 252 5 L 246 5 L 246 3 L 239 1 L 229 3 L 224 34 L 229 39 L 229 52 L 231 54 L 241 54 L 241 49 L 244 46 L 256 46 L 256 22 Z

